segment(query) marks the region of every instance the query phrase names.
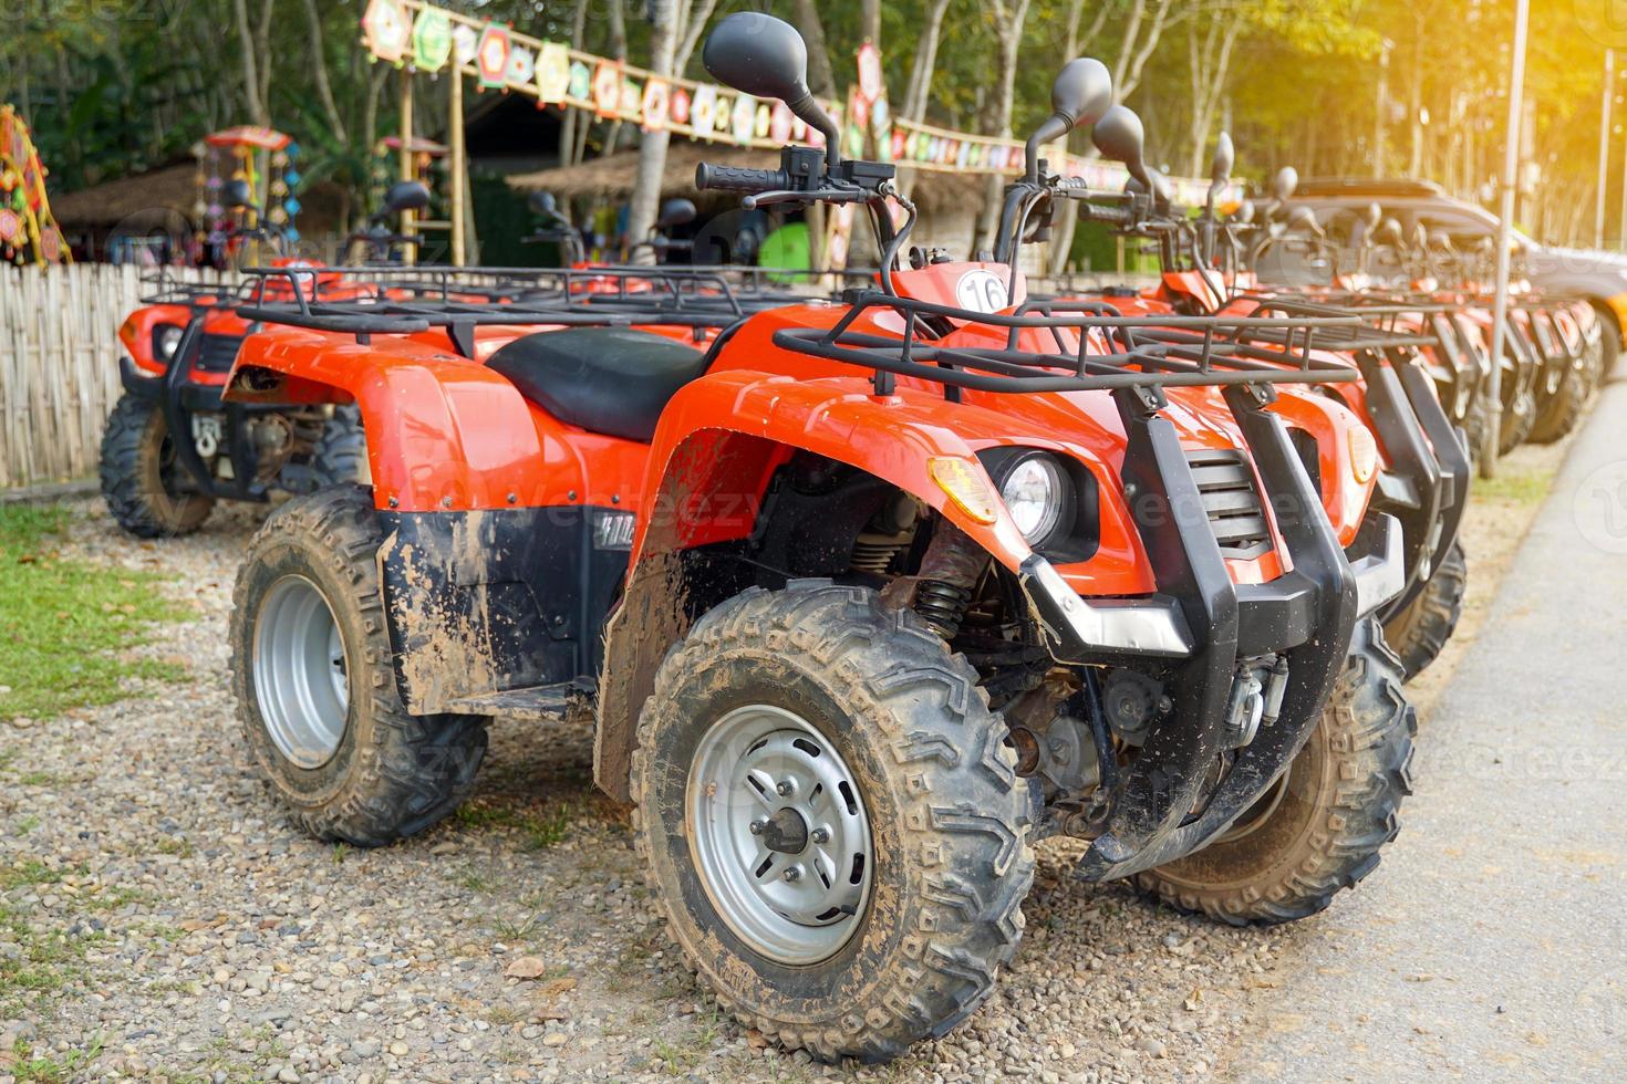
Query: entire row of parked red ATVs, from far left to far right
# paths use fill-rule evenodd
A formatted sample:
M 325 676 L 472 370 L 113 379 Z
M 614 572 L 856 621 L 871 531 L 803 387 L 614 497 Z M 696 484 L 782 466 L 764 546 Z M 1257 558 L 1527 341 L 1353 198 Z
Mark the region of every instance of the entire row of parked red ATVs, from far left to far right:
M 1209 205 L 1175 206 L 1088 59 L 997 250 L 913 249 L 893 166 L 840 156 L 789 24 L 731 15 L 704 63 L 830 150 L 696 187 L 862 205 L 872 278 L 285 265 L 125 323 L 122 525 L 298 494 L 231 619 L 241 722 L 294 819 L 415 835 L 470 793 L 493 717 L 547 741 L 591 707 L 672 936 L 727 1009 L 822 1058 L 971 1014 L 1046 837 L 1088 842 L 1082 879 L 1228 923 L 1367 876 L 1409 790 L 1402 683 L 1463 600 L 1484 289 L 1380 281 L 1448 254 L 1380 221 L 1336 237 L 1284 210 L 1287 179 L 1220 206 L 1227 140 Z M 1049 172 L 1074 127 L 1128 190 Z M 1064 200 L 1157 245 L 1162 284 L 1030 283 Z M 1266 275 L 1285 262 L 1328 273 Z M 1604 353 L 1586 306 L 1516 314 L 1507 440 L 1575 424 Z

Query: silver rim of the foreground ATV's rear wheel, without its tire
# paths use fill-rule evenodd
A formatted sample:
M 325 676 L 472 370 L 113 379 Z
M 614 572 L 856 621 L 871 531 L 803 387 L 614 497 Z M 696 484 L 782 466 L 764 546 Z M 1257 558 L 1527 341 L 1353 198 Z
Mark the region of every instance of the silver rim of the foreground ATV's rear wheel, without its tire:
M 338 621 L 316 583 L 286 575 L 265 593 L 254 622 L 254 697 L 277 751 L 303 769 L 338 752 L 350 679 Z

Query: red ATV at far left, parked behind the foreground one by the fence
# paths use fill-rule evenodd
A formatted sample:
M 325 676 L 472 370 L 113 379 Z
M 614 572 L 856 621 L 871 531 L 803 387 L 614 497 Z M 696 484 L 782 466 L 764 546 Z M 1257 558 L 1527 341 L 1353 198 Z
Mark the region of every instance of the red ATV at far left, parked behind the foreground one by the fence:
M 247 184 L 228 185 L 226 198 L 247 206 Z M 390 190 L 387 210 L 421 206 L 423 185 Z M 254 231 L 281 249 L 275 228 Z M 369 234 L 369 242 L 379 242 Z M 392 239 L 386 234 L 384 239 Z M 281 257 L 290 268 L 273 289 L 296 288 L 324 297 L 374 293 L 366 283 L 304 260 Z M 101 491 L 114 520 L 140 538 L 197 530 L 216 501 L 267 501 L 277 491 L 314 492 L 366 479 L 366 444 L 353 406 L 225 401 L 226 375 L 251 322 L 238 315 L 241 288 L 176 283 L 159 275 L 119 328 L 124 395 L 103 432 Z

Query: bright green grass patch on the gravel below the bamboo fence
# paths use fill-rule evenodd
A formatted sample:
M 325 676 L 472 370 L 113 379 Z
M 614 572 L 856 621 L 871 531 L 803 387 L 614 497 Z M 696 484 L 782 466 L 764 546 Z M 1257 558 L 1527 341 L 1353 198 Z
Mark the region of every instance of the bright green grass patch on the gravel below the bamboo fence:
M 0 505 L 0 718 L 49 718 L 127 696 L 127 678 L 179 681 L 182 666 L 124 660 L 151 622 L 187 608 L 164 598 L 153 572 L 63 559 L 55 548 L 70 522 L 57 505 Z

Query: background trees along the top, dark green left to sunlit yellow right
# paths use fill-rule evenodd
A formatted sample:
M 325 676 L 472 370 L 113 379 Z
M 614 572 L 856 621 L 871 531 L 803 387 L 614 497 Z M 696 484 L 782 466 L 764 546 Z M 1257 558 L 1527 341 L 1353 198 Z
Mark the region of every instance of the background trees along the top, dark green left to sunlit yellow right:
M 664 55 L 700 75 L 700 28 L 739 0 L 446 0 L 537 37 Z M 1489 198 L 1500 172 L 1511 0 L 770 0 L 802 28 L 815 88 L 853 80 L 877 37 L 895 109 L 965 130 L 1022 133 L 1048 111 L 1051 75 L 1100 57 L 1147 122 L 1150 159 L 1197 172 L 1222 128 L 1238 172 L 1424 176 Z M 1551 241 L 1591 236 L 1606 31 L 1585 5 L 1533 5 L 1528 159 L 1541 192 L 1521 221 Z M 272 124 L 306 150 L 308 180 L 356 195 L 395 128 L 389 68 L 358 46 L 364 0 L 13 0 L 0 101 L 29 119 L 52 185 L 72 190 L 182 158 L 205 132 Z M 675 15 L 672 10 L 677 8 Z M 662 28 L 662 18 L 672 21 Z M 652 37 L 652 26 L 657 33 Z M 652 54 L 652 46 L 661 55 Z M 1627 63 L 1619 65 L 1627 68 Z M 1627 88 L 1627 80 L 1620 80 Z M 436 96 L 441 96 L 439 99 Z M 473 96 L 470 96 L 473 101 Z M 418 96 L 436 133 L 444 86 Z M 1627 106 L 1616 111 L 1617 130 Z M 631 125 L 573 119 L 560 150 L 636 141 Z M 1084 137 L 1080 150 L 1085 146 Z M 1375 140 L 1380 143 L 1375 148 Z M 550 148 L 553 150 L 553 148 Z M 1620 171 L 1620 138 L 1612 150 Z M 1617 202 L 1611 180 L 1611 202 Z M 1620 232 L 1612 206 L 1609 236 Z

